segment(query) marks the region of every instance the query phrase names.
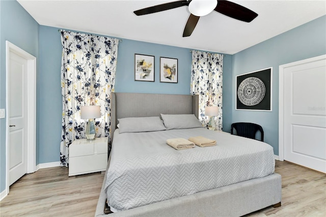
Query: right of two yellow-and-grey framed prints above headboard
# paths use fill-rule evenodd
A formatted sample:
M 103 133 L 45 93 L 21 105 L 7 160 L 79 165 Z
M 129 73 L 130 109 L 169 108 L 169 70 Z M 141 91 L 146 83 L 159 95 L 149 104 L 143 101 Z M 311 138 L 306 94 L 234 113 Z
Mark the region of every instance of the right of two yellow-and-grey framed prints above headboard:
M 178 59 L 161 57 L 159 60 L 159 81 L 178 83 Z

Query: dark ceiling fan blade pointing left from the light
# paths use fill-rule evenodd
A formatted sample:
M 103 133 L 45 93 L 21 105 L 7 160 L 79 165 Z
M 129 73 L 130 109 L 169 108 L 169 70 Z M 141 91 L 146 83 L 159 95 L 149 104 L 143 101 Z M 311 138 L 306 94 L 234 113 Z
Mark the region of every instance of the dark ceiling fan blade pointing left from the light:
M 174 8 L 179 8 L 182 6 L 188 6 L 190 1 L 182 0 L 182 1 L 176 1 L 176 2 L 169 2 L 161 5 L 155 5 L 148 8 L 143 8 L 137 11 L 134 11 L 133 13 L 137 16 L 145 15 L 145 14 L 152 14 L 160 11 L 166 11 Z

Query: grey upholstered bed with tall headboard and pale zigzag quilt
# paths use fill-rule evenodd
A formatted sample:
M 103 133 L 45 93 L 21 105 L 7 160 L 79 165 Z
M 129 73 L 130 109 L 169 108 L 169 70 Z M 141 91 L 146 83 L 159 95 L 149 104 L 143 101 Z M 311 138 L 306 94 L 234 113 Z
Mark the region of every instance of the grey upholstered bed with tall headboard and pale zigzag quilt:
M 198 96 L 113 93 L 111 103 L 112 152 L 95 216 L 104 215 L 106 201 L 114 211 L 110 216 L 241 216 L 281 205 L 281 176 L 274 173 L 273 148 L 266 143 L 198 126 L 116 128 L 118 119 L 122 124 L 130 117 L 198 118 Z M 217 145 L 175 150 L 166 144 L 195 135 Z

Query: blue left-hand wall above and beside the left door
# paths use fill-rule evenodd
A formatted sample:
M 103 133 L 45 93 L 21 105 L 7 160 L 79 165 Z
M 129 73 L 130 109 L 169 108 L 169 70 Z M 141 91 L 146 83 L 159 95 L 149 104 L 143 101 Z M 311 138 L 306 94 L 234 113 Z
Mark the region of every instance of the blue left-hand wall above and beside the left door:
M 39 24 L 16 1 L 0 1 L 0 108 L 6 108 L 6 40 L 39 57 Z M 0 192 L 6 188 L 6 118 L 0 119 Z

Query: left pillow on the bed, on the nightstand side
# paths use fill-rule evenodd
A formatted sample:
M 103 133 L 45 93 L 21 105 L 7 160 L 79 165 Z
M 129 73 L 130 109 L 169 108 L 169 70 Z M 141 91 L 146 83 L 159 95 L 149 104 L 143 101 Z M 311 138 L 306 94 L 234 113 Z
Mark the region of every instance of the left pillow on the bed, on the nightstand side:
M 120 118 L 119 133 L 166 130 L 159 117 Z

